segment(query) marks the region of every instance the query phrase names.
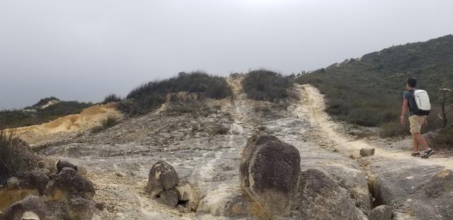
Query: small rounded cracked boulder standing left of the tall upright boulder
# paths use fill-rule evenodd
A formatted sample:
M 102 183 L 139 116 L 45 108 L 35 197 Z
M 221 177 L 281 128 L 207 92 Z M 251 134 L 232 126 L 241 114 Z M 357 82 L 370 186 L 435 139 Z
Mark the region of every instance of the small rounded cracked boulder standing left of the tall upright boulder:
M 149 170 L 147 190 L 156 197 L 179 183 L 178 173 L 165 161 L 157 161 Z

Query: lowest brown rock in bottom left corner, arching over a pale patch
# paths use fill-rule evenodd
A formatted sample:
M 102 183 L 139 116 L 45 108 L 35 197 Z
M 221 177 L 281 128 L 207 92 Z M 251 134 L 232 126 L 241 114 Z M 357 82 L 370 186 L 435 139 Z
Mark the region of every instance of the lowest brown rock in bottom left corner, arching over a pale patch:
M 30 213 L 45 219 L 45 202 L 42 197 L 28 196 L 12 204 L 3 214 L 0 214 L 0 220 L 21 220 L 24 214 Z

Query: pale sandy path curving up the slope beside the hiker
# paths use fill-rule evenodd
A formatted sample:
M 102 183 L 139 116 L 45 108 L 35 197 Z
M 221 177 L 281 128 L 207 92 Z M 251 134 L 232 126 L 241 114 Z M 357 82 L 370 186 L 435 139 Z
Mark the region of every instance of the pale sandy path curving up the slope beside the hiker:
M 319 93 L 318 89 L 309 84 L 295 85 L 302 95 L 300 108 L 303 108 L 308 113 L 310 121 L 314 125 L 318 125 L 324 137 L 332 141 L 336 149 L 346 154 L 357 154 L 360 149 L 365 147 L 375 148 L 375 155 L 388 159 L 398 160 L 418 160 L 418 163 L 426 166 L 443 166 L 448 169 L 453 169 L 453 160 L 451 158 L 436 158 L 431 156 L 429 159 L 413 158 L 410 152 L 398 151 L 394 149 L 376 148 L 364 140 L 352 140 L 338 131 L 338 124 L 334 122 L 325 111 L 324 95 Z

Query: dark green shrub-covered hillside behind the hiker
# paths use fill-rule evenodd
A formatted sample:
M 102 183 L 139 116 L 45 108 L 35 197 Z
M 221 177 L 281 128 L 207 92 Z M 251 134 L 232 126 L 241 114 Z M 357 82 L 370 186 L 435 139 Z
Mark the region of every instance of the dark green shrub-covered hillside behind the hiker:
M 427 42 L 409 43 L 348 59 L 304 74 L 298 83 L 319 88 L 328 100 L 327 112 L 339 120 L 358 125 L 397 126 L 402 93 L 408 76 L 418 79 L 418 87 L 438 101 L 437 88 L 453 85 L 453 35 Z M 440 127 L 437 105 L 430 115 L 429 129 Z M 397 131 L 394 131 L 397 132 Z

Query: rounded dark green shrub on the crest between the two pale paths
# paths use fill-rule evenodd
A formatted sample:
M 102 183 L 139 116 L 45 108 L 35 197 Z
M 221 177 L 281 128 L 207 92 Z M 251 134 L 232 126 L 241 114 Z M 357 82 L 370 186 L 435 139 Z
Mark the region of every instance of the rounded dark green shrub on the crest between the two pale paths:
M 273 71 L 256 70 L 247 74 L 242 81 L 242 87 L 248 98 L 277 102 L 288 97 L 287 88 L 290 83 L 289 76 L 282 76 Z

